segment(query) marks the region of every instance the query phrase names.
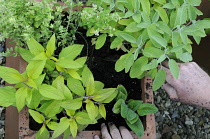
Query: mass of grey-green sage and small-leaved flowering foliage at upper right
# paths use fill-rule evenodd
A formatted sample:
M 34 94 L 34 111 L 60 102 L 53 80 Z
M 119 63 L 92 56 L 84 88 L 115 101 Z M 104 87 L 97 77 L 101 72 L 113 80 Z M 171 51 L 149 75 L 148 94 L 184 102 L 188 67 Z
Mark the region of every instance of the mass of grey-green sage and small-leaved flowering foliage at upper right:
M 131 78 L 150 76 L 157 90 L 165 81 L 161 62 L 169 60 L 169 68 L 178 79 L 177 62 L 192 60 L 192 41 L 197 44 L 210 28 L 210 20 L 196 20 L 202 15 L 196 6 L 201 0 L 89 0 L 93 7 L 84 8 L 80 26 L 87 35 L 96 35 L 93 45 L 101 48 L 108 36 L 111 49 L 127 54 L 116 62 L 116 71 L 130 71 Z M 161 77 L 161 78 L 159 78 Z

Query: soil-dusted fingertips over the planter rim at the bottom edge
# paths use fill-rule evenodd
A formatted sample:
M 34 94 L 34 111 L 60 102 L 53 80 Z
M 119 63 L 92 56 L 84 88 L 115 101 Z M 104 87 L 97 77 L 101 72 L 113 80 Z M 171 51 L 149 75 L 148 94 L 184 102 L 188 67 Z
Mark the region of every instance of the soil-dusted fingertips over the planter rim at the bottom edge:
M 131 133 L 125 127 L 120 126 L 118 130 L 117 127 L 112 123 L 109 123 L 108 126 L 110 133 L 107 129 L 107 126 L 104 123 L 101 124 L 102 139 L 133 139 Z M 93 139 L 100 138 L 98 135 L 95 135 Z

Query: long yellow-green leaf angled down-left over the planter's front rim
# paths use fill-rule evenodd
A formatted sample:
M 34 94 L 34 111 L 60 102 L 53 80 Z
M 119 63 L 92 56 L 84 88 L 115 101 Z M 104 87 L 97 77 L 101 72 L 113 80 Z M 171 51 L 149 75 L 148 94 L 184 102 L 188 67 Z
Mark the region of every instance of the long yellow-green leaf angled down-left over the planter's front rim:
M 62 117 L 60 119 L 60 123 L 56 126 L 56 129 L 52 135 L 52 138 L 56 138 L 61 135 L 68 127 L 70 126 L 69 119 L 66 117 Z

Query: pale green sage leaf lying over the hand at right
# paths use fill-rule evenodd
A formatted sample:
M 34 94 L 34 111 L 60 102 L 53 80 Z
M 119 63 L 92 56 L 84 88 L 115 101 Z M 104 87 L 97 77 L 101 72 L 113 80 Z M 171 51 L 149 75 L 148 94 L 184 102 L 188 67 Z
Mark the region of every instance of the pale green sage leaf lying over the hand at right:
M 174 76 L 174 78 L 178 80 L 179 66 L 178 66 L 178 64 L 176 63 L 175 60 L 173 60 L 173 59 L 169 60 L 169 69 L 170 69 L 172 75 Z

